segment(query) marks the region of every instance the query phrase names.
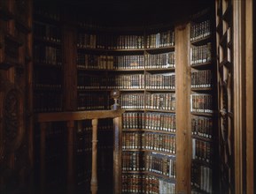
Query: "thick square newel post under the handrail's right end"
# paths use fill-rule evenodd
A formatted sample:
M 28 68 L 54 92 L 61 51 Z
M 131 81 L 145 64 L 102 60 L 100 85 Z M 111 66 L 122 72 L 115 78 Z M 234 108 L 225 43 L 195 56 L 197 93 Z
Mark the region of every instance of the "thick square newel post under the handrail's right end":
M 115 194 L 121 193 L 121 117 L 113 118 L 113 190 Z

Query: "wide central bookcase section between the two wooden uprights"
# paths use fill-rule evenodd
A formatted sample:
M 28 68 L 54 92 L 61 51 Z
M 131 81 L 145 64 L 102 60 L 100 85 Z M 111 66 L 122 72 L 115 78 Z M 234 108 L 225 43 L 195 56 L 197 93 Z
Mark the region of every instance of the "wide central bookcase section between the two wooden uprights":
M 100 30 L 90 29 L 77 35 L 78 97 L 82 100 L 77 107 L 108 108 L 108 99 L 98 93 L 119 89 L 120 107 L 126 110 L 122 191 L 153 192 L 159 185 L 162 191 L 174 191 L 174 28 L 141 28 L 115 34 L 113 29 L 108 30 L 100 34 Z M 82 95 L 85 91 L 91 93 Z M 93 93 L 97 95 L 89 97 Z

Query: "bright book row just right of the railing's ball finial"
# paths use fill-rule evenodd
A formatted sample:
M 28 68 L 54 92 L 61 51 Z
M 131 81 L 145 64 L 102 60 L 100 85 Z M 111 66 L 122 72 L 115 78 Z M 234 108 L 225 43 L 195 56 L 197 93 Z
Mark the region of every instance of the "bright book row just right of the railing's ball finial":
M 121 108 L 175 110 L 175 93 L 125 93 L 120 96 Z

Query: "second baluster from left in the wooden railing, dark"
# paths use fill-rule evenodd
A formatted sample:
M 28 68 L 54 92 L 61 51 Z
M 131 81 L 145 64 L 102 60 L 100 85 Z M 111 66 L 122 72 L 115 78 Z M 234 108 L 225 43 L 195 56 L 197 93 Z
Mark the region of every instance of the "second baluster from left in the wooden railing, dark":
M 67 126 L 67 192 L 74 191 L 74 121 L 66 123 Z

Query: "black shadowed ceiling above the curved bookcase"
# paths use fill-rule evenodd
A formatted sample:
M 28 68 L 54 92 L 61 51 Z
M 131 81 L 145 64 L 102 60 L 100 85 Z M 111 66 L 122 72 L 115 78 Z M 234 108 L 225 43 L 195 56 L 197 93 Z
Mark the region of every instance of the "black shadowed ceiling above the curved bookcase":
M 45 6 L 61 6 L 67 15 L 92 19 L 106 25 L 148 25 L 182 22 L 213 0 L 35 0 Z

